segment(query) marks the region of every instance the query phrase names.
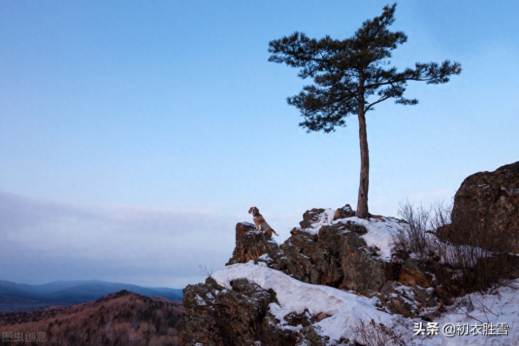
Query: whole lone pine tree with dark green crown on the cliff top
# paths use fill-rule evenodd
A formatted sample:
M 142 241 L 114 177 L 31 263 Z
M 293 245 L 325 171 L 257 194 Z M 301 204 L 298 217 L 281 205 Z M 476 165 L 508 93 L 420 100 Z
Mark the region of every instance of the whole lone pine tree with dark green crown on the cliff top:
M 269 42 L 272 53 L 268 61 L 285 63 L 300 68 L 298 77 L 313 78 L 314 84 L 303 87 L 299 94 L 286 99 L 289 105 L 301 111 L 304 121 L 299 126 L 307 132 L 335 131 L 345 127 L 345 118 L 359 118 L 360 185 L 357 216 L 367 218 L 367 191 L 370 164 L 368 160 L 366 113 L 373 106 L 387 99 L 395 103 L 416 105 L 417 99 L 406 99 L 403 94 L 408 80 L 425 81 L 427 84 L 444 84 L 450 75 L 461 73 L 461 64 L 445 60 L 416 63 L 414 68 L 398 72 L 390 67 L 391 51 L 407 41 L 401 32 L 391 32 L 397 4 L 384 7 L 381 16 L 362 23 L 359 30 L 344 40 L 325 36 L 319 40 L 304 33 Z

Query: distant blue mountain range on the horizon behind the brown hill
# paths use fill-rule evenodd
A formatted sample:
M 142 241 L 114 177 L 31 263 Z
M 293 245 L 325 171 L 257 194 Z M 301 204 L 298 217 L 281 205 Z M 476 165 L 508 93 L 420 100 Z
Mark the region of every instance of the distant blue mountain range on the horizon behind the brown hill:
M 52 306 L 70 306 L 93 301 L 126 289 L 148 297 L 182 300 L 182 289 L 141 287 L 100 280 L 54 281 L 43 285 L 18 284 L 0 280 L 0 313 L 31 311 Z

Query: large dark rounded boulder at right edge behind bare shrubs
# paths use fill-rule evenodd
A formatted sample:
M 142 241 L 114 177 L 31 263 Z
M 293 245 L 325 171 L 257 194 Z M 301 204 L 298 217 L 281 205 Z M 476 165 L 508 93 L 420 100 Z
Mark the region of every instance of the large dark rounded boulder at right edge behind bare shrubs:
M 519 161 L 468 176 L 454 197 L 451 220 L 461 232 L 458 240 L 487 234 L 493 241 L 476 245 L 519 253 Z

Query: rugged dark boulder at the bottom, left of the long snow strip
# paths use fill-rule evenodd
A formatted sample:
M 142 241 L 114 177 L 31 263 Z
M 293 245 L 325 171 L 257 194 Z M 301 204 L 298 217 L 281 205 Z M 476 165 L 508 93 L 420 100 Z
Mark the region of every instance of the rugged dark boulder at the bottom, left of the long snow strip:
M 247 279 L 231 282 L 224 289 L 212 278 L 184 289 L 186 316 L 179 334 L 181 345 L 295 344 L 296 335 L 276 328 L 268 305 L 275 293 Z

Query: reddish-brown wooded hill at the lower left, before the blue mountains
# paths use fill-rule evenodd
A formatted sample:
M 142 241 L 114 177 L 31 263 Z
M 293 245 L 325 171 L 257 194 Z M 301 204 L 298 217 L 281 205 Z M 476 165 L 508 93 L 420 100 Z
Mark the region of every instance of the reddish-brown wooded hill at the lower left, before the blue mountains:
M 44 337 L 46 342 L 35 344 L 177 345 L 184 315 L 181 302 L 149 298 L 122 290 L 94 302 L 67 308 L 0 315 L 0 331 L 11 333 L 11 342 L 4 340 L 2 343 L 9 346 L 29 344 L 25 341 L 31 338 L 37 341 Z M 16 333 L 18 340 L 23 335 L 22 342 L 17 341 Z

